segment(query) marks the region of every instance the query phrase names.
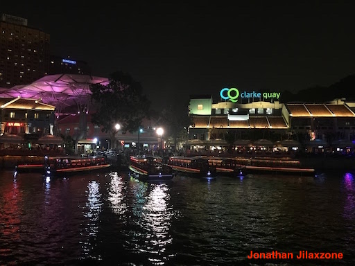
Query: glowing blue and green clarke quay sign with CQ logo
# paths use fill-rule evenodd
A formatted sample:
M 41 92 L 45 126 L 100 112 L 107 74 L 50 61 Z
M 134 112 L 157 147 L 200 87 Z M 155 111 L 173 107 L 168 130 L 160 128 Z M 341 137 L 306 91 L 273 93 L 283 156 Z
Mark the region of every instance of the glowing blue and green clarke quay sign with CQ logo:
M 220 90 L 220 98 L 224 100 L 230 100 L 233 103 L 238 102 L 239 96 L 241 98 L 261 98 L 270 99 L 270 98 L 280 98 L 280 92 L 256 92 L 256 91 L 243 91 L 242 93 L 239 92 L 239 89 L 236 88 L 223 88 Z

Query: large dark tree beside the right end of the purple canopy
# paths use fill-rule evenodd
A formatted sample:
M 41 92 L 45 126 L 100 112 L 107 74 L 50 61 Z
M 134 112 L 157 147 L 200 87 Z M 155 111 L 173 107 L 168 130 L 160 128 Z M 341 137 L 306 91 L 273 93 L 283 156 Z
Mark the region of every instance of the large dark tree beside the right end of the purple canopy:
M 137 132 L 148 114 L 150 102 L 142 94 L 140 83 L 122 71 L 112 73 L 107 85 L 92 85 L 90 91 L 96 109 L 92 123 L 102 126 L 102 132 L 110 134 L 112 147 L 116 148 L 115 134 L 118 130 L 114 125 L 121 125 L 123 134 Z

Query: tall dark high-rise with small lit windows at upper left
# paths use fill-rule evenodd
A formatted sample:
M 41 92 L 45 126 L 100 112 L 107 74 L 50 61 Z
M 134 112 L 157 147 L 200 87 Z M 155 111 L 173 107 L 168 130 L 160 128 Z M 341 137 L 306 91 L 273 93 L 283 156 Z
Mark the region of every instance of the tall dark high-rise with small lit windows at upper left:
M 0 87 L 30 84 L 47 75 L 50 35 L 28 26 L 27 19 L 0 19 Z

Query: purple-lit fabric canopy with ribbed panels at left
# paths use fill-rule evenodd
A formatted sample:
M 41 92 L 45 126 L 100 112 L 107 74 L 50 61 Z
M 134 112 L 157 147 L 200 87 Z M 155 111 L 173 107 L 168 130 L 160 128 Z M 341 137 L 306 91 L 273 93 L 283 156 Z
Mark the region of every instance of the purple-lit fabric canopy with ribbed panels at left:
M 30 85 L 17 85 L 0 89 L 0 97 L 42 98 L 43 103 L 64 109 L 76 105 L 89 105 L 90 85 L 107 85 L 107 78 L 80 74 L 56 74 L 36 80 Z

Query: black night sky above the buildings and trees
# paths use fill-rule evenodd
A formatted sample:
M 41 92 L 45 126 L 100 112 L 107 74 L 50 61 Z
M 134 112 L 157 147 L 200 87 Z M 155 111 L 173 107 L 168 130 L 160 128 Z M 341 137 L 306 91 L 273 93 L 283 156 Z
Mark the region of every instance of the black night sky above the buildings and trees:
M 73 2 L 1 3 L 0 12 L 42 28 L 54 54 L 87 61 L 94 76 L 129 73 L 152 107 L 190 94 L 216 101 L 223 87 L 296 92 L 355 73 L 350 1 Z

